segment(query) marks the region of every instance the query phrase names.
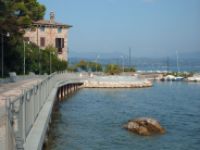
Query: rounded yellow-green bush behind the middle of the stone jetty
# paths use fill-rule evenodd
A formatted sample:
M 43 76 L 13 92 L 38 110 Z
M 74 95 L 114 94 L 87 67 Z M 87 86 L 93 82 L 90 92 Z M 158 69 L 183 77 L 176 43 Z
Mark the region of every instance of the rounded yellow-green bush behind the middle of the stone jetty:
M 116 64 L 106 65 L 105 73 L 114 75 L 114 74 L 120 74 L 121 72 L 122 72 L 122 68 L 119 65 L 116 65 Z

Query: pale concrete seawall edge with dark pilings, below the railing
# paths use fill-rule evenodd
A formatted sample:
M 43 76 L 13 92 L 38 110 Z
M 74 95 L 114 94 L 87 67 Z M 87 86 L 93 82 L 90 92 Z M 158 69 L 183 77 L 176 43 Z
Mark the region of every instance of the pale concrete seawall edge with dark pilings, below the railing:
M 46 134 L 49 130 L 49 124 L 51 123 L 51 114 L 56 103 L 56 100 L 62 100 L 68 94 L 71 94 L 79 89 L 82 83 L 65 82 L 65 84 L 58 83 L 53 89 L 46 103 L 40 111 L 35 123 L 29 133 L 24 144 L 25 150 L 41 150 L 46 140 Z

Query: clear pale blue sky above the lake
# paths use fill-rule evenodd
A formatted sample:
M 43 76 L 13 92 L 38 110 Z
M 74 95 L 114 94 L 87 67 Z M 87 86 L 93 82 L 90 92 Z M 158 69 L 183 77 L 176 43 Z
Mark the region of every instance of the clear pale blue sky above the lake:
M 69 55 L 168 57 L 200 52 L 200 0 L 38 0 L 72 25 Z

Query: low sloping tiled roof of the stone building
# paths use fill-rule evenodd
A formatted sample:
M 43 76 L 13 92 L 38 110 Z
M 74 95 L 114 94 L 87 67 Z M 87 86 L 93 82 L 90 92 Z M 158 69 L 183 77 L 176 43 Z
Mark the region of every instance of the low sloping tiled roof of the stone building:
M 51 22 L 50 20 L 38 20 L 38 21 L 34 21 L 33 25 L 41 25 L 41 26 L 55 26 L 55 27 L 64 27 L 64 28 L 70 28 L 72 27 L 71 25 L 67 25 L 67 24 L 62 24 L 62 23 L 58 23 L 58 22 Z

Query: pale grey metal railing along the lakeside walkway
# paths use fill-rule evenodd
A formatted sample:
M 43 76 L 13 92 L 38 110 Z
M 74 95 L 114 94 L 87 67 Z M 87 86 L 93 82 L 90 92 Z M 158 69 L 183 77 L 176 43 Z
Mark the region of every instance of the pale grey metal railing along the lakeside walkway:
M 23 144 L 34 125 L 52 89 L 65 76 L 65 72 L 54 73 L 30 89 L 23 89 L 22 95 L 7 102 L 7 145 L 11 149 L 23 149 Z M 13 139 L 15 138 L 15 139 Z M 10 148 L 9 148 L 10 149 Z

